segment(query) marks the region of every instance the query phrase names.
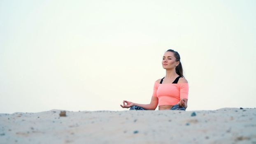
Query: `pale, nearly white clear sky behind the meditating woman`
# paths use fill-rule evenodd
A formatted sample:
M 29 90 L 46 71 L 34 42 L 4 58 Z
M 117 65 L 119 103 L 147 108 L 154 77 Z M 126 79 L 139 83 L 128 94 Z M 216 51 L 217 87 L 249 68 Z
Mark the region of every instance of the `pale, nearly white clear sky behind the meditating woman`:
M 148 104 L 168 49 L 187 111 L 256 107 L 255 15 L 255 0 L 0 0 L 0 113 Z

